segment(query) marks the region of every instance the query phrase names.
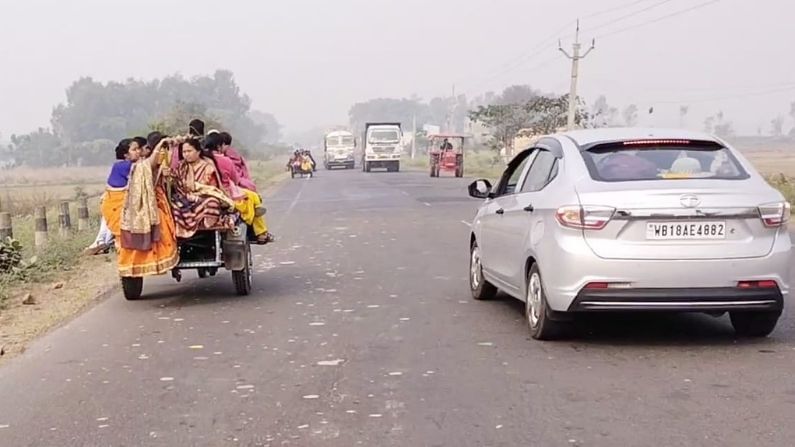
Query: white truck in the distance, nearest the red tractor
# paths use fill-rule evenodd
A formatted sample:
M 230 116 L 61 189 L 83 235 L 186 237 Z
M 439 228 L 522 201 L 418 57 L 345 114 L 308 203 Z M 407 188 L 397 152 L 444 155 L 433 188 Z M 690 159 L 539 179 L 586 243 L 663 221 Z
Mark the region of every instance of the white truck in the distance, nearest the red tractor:
M 362 144 L 362 170 L 386 168 L 387 172 L 400 170 L 403 152 L 403 131 L 400 123 L 367 123 Z

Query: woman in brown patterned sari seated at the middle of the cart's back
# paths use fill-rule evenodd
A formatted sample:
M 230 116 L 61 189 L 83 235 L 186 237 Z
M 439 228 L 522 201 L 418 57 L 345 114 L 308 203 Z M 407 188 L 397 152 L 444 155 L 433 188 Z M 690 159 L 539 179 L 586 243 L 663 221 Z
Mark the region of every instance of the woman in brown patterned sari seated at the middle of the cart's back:
M 218 171 L 201 144 L 189 138 L 179 145 L 179 165 L 172 173 L 171 207 L 177 225 L 177 237 L 187 239 L 199 230 L 231 229 L 235 223 L 226 211 L 235 202 L 220 189 Z

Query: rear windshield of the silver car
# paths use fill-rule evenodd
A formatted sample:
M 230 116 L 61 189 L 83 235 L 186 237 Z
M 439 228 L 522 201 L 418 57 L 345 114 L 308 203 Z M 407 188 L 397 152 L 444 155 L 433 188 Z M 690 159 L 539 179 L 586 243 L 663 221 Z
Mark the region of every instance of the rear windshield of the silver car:
M 591 177 L 603 182 L 641 180 L 741 180 L 748 173 L 717 143 L 597 145 L 582 152 Z

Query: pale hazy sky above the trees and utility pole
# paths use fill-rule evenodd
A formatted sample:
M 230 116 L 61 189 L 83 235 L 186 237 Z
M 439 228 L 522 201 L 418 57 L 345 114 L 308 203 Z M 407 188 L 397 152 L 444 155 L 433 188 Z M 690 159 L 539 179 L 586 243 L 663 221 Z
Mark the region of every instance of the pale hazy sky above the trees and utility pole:
M 81 76 L 228 68 L 253 107 L 289 130 L 346 123 L 352 103 L 373 97 L 448 95 L 454 83 L 470 96 L 514 83 L 564 92 L 569 62 L 554 36 L 573 31 L 563 29 L 577 16 L 584 39 L 597 37 L 581 68 L 586 100 L 654 105 L 644 124 L 677 125 L 684 103 L 690 127 L 723 110 L 742 133 L 768 131 L 776 114 L 789 128 L 795 2 L 720 0 L 643 25 L 705 2 L 0 0 L 0 133 L 49 125 Z

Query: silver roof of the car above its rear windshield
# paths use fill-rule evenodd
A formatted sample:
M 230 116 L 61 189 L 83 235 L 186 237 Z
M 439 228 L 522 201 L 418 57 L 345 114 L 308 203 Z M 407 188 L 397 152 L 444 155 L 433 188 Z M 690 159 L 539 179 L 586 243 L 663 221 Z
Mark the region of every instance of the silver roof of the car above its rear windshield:
M 658 129 L 642 127 L 607 127 L 601 129 L 581 129 L 562 132 L 557 136 L 571 138 L 578 146 L 591 146 L 599 143 L 626 140 L 676 139 L 698 140 L 720 143 L 712 135 L 685 129 Z

